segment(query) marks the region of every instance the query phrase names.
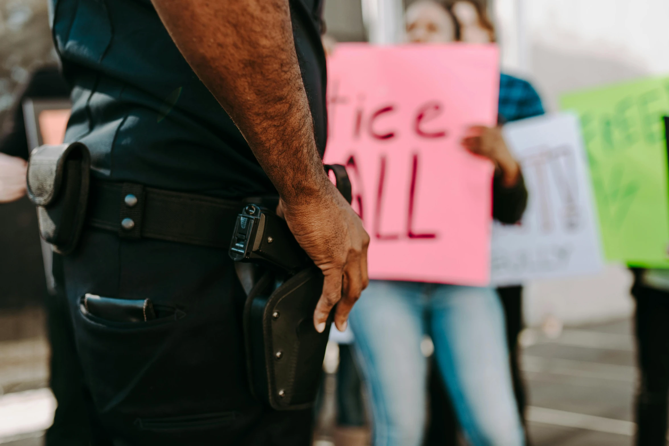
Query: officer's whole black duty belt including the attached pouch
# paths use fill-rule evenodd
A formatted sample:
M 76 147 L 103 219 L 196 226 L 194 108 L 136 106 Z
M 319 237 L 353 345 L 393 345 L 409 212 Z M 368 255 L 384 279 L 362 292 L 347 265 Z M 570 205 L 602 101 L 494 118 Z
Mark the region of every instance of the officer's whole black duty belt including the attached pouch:
M 334 174 L 338 189 L 350 202 L 351 183 L 344 166 L 324 168 L 328 175 Z M 33 150 L 27 183 L 41 237 L 64 255 L 76 248 L 84 224 L 125 239 L 145 237 L 228 249 L 244 205 L 274 209 L 278 204 L 276 196 L 231 201 L 93 179 L 90 152 L 80 142 Z

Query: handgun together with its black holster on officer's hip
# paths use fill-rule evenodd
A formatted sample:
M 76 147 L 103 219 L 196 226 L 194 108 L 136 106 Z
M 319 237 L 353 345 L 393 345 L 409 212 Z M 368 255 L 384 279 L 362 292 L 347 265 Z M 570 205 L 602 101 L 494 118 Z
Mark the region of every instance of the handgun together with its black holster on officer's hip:
M 326 165 L 351 203 L 344 166 Z M 276 206 L 248 204 L 237 217 L 229 254 L 247 293 L 244 341 L 248 380 L 256 398 L 276 410 L 310 407 L 316 399 L 334 311 L 322 333 L 314 310 L 323 274 L 298 245 Z M 272 203 L 274 205 L 274 203 Z

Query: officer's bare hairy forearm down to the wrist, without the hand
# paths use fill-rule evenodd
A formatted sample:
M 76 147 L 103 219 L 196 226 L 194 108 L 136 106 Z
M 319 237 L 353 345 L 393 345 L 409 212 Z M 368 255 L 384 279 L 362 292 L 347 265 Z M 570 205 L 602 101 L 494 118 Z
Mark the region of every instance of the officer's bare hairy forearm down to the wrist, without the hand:
M 286 203 L 327 177 L 295 52 L 288 0 L 152 0 L 195 74 L 225 108 Z

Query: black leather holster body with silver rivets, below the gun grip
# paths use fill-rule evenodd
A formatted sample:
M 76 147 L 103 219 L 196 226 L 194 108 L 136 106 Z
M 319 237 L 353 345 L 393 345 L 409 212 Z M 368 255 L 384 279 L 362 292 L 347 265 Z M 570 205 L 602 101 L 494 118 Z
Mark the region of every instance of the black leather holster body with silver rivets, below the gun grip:
M 317 267 L 306 267 L 280 285 L 276 280 L 266 271 L 246 300 L 248 378 L 256 398 L 273 409 L 306 409 L 316 398 L 334 312 L 324 332 L 316 332 L 314 310 L 323 289 Z

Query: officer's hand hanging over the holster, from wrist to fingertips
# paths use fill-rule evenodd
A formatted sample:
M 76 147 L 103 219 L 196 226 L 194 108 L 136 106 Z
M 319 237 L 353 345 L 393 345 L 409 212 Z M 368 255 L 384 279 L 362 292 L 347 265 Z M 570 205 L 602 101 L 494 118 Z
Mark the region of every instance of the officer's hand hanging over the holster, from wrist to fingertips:
M 318 197 L 300 199 L 298 203 L 279 205 L 290 231 L 300 246 L 323 271 L 323 292 L 314 312 L 318 332 L 338 302 L 334 324 L 346 329 L 353 304 L 367 288 L 367 247 L 369 235 L 351 205 L 330 181 Z

